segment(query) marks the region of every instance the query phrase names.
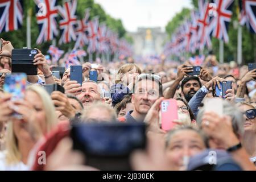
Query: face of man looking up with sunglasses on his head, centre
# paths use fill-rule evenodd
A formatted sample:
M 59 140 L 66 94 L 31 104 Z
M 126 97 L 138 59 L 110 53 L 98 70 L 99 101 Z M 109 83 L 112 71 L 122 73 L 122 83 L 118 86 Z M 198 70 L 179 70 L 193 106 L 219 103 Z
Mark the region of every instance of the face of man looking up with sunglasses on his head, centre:
M 139 114 L 147 114 L 147 111 L 159 98 L 159 85 L 152 80 L 142 80 L 135 85 L 131 103 Z

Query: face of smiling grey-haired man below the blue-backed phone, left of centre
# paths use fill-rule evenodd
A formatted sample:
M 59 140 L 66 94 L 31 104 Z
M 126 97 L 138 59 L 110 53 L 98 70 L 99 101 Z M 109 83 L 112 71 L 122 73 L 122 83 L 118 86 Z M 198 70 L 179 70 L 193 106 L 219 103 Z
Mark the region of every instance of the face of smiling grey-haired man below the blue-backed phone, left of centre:
M 99 87 L 94 82 L 85 82 L 82 84 L 82 92 L 77 95 L 77 98 L 82 102 L 82 105 L 86 107 L 92 104 L 93 101 L 100 101 L 101 94 Z

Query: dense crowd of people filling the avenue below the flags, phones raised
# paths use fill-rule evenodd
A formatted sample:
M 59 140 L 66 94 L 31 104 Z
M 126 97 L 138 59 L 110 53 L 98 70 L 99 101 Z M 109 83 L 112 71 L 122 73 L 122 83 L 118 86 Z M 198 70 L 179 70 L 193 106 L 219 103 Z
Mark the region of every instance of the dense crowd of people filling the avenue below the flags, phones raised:
M 208 55 L 200 75 L 191 76 L 193 63 L 178 64 L 161 57 L 158 65 L 136 60 L 112 61 L 92 68 L 82 63 L 82 84 L 71 80 L 67 68 L 60 78 L 52 76 L 43 53 L 33 61 L 38 75 L 27 76 L 23 100 L 4 92 L 11 74 L 11 42 L 2 40 L 0 51 L 0 170 L 97 170 L 82 163 L 86 156 L 72 148 L 73 123 L 145 123 L 147 146 L 131 152 L 133 170 L 194 170 L 207 168 L 217 154 L 214 169 L 255 170 L 256 165 L 256 69 L 234 62 L 220 64 Z M 98 81 L 89 79 L 97 71 Z M 219 98 L 222 114 L 207 110 L 216 97 L 216 86 L 232 81 L 232 89 Z M 59 84 L 64 93 L 49 95 L 47 84 Z M 175 99 L 177 119 L 163 130 L 161 103 Z M 14 117 L 18 113 L 21 117 Z M 171 115 L 170 115 L 171 117 Z M 131 136 L 127 136 L 129 138 Z M 46 163 L 40 164 L 40 151 Z M 222 156 L 222 158 L 221 158 Z M 221 163 L 229 166 L 221 168 Z M 232 164 L 232 165 L 231 165 Z

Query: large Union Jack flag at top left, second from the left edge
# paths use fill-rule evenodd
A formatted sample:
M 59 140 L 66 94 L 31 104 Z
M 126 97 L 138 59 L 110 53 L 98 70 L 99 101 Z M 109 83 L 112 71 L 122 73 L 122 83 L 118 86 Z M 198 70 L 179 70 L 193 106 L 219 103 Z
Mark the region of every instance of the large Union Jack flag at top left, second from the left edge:
M 46 7 L 45 15 L 36 14 L 36 22 L 39 25 L 39 36 L 36 40 L 36 44 L 41 44 L 42 42 L 47 42 L 52 40 L 57 35 L 59 31 L 57 30 L 57 16 L 58 16 L 58 6 L 56 0 L 35 0 L 36 10 L 38 11 L 38 5 L 44 3 Z

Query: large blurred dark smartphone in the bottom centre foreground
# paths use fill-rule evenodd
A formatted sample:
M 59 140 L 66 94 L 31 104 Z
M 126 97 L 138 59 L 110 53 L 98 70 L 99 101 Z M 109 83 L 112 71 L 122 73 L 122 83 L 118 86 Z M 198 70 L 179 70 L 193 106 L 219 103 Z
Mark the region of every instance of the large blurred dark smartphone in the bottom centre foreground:
M 73 149 L 82 151 L 85 165 L 101 170 L 131 170 L 130 154 L 146 147 L 144 123 L 75 123 Z

